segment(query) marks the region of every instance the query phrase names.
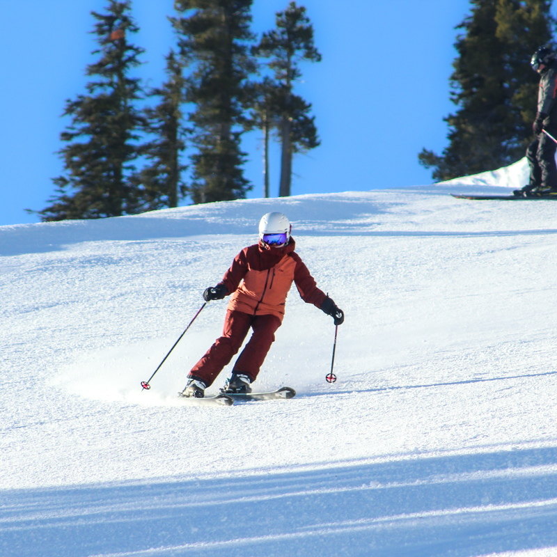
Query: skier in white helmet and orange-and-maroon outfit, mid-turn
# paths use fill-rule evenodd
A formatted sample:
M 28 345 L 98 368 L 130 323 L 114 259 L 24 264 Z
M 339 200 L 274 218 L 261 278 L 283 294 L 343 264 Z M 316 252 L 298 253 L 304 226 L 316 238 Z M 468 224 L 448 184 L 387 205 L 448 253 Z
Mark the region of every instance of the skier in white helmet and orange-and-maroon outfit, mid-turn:
M 182 395 L 202 398 L 205 389 L 240 350 L 250 327 L 253 334 L 235 362 L 224 390 L 226 393 L 251 393 L 250 385 L 257 379 L 274 342 L 274 333 L 281 326 L 292 282 L 301 299 L 331 315 L 336 325 L 343 323 L 343 311 L 317 288 L 313 276 L 294 251 L 296 243 L 290 236 L 291 230 L 290 221 L 282 213 L 263 215 L 258 244 L 240 251 L 222 281 L 203 292 L 206 301 L 232 296 L 222 336 L 191 369 Z

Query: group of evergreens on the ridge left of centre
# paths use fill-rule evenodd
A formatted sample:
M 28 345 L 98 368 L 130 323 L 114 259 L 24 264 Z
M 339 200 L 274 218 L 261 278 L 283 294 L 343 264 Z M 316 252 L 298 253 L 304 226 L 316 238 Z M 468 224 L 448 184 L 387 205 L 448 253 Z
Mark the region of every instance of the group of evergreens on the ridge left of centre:
M 250 29 L 253 0 L 176 0 L 176 36 L 166 81 L 146 90 L 132 71 L 143 49 L 130 0 L 92 12 L 98 48 L 86 68 L 86 93 L 65 104 L 63 175 L 38 211 L 42 221 L 97 219 L 244 198 L 244 132 L 264 137 L 269 196 L 269 137 L 281 142 L 278 194 L 290 195 L 292 156 L 320 144 L 311 104 L 293 91 L 301 61 L 320 61 L 306 8 L 290 2 L 276 27 L 258 39 Z M 146 106 L 144 106 L 146 104 Z M 185 150 L 192 150 L 189 165 Z M 185 172 L 189 179 L 185 180 Z

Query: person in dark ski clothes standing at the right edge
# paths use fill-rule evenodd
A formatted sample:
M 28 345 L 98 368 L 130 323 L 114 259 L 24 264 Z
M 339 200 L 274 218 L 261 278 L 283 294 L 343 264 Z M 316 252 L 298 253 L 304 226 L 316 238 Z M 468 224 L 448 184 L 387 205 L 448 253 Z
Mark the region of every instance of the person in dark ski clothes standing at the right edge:
M 526 158 L 530 165 L 530 183 L 513 193 L 515 196 L 524 197 L 557 195 L 556 56 L 549 48 L 540 47 L 532 56 L 531 66 L 542 77 L 538 90 L 538 113 L 533 123 L 536 138 L 526 150 Z

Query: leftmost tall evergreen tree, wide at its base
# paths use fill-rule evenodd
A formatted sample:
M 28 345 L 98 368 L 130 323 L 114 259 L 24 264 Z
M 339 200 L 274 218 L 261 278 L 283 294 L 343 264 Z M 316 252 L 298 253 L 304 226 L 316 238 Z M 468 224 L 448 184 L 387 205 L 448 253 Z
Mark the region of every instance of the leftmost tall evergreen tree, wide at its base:
M 86 85 L 87 95 L 66 102 L 64 115 L 72 124 L 61 134 L 68 145 L 60 150 L 65 174 L 55 178 L 52 205 L 38 212 L 43 221 L 118 217 L 139 211 L 140 192 L 129 176 L 137 157 L 137 132 L 143 118 L 135 102 L 141 97 L 139 79 L 130 70 L 139 65 L 143 49 L 128 42 L 139 31 L 130 16 L 131 1 L 109 0 L 106 13 L 92 12 L 93 33 L 100 59 L 86 74 L 97 79 Z M 79 141 L 79 140 L 82 141 Z

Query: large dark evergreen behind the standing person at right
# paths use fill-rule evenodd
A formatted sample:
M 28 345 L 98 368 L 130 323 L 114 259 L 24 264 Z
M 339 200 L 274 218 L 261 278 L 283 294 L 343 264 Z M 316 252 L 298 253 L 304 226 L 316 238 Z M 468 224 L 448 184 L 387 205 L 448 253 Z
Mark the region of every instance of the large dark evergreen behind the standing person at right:
M 459 56 L 450 77 L 456 113 L 444 120 L 450 141 L 442 155 L 418 155 L 434 180 L 494 170 L 524 157 L 532 139 L 539 76 L 530 58 L 551 41 L 551 0 L 471 0 L 457 26 Z

